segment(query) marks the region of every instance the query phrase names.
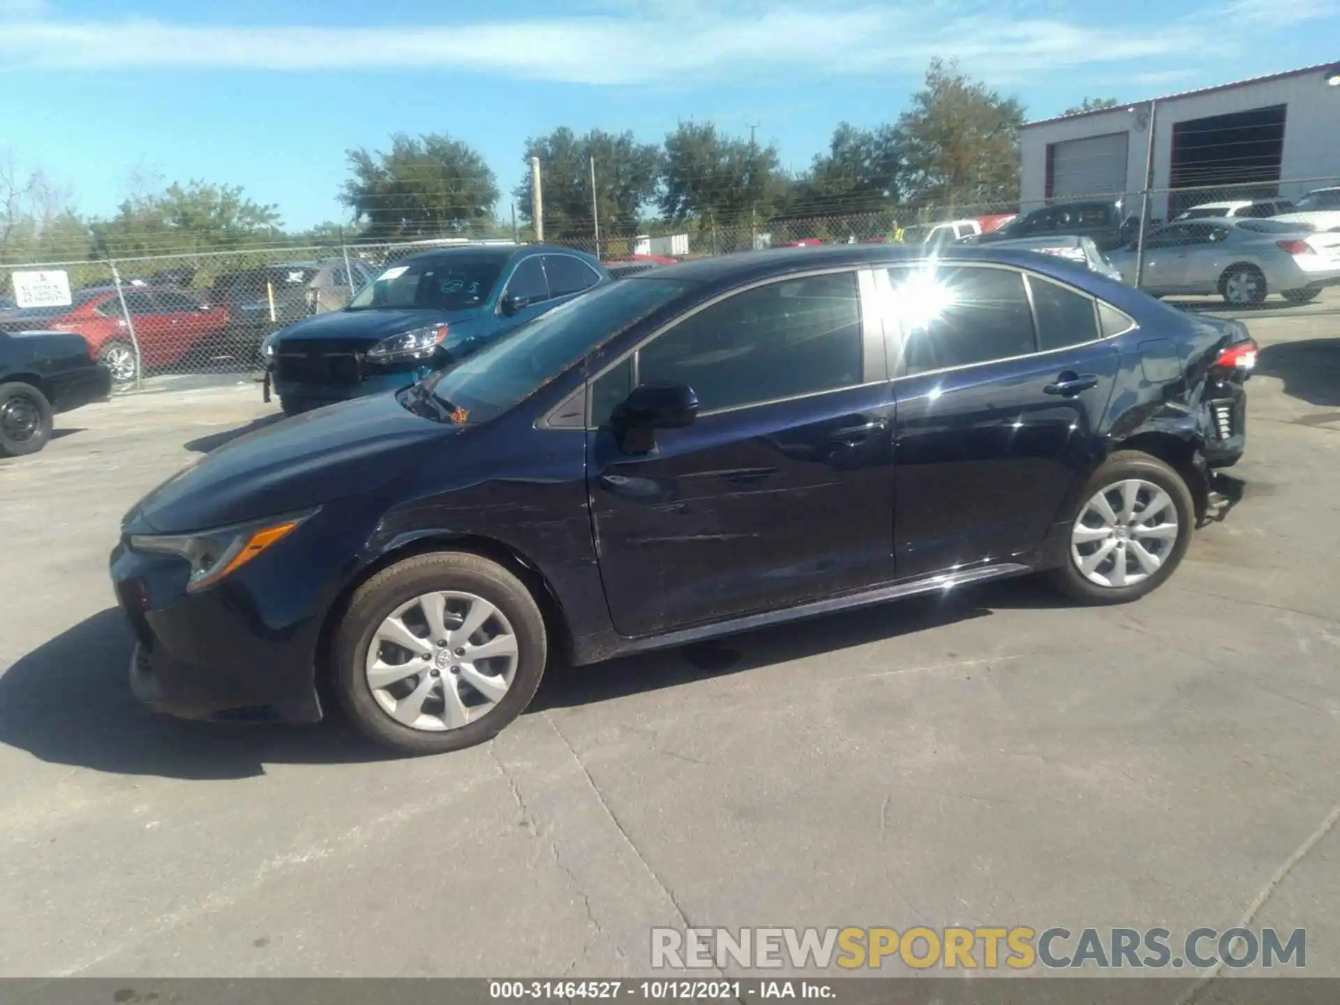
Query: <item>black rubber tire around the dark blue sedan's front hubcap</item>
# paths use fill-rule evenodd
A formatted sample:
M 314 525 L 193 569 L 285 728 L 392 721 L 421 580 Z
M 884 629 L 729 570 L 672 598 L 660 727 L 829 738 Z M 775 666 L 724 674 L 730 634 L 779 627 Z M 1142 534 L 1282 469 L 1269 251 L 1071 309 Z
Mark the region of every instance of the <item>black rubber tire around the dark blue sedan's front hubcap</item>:
M 457 729 L 426 732 L 402 725 L 382 709 L 364 675 L 367 649 L 397 607 L 436 591 L 474 594 L 511 623 L 517 665 L 503 698 Z M 544 616 L 520 579 L 496 561 L 466 552 L 418 555 L 382 570 L 358 588 L 331 645 L 331 682 L 340 706 L 360 733 L 401 750 L 426 754 L 461 750 L 493 738 L 520 716 L 540 686 L 548 659 Z

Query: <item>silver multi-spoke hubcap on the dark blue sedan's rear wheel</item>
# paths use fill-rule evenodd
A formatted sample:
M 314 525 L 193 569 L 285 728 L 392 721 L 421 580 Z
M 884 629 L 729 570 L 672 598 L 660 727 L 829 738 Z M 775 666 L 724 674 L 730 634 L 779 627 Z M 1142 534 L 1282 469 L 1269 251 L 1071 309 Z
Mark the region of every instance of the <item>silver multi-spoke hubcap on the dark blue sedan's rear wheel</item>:
M 1071 529 L 1071 559 L 1091 583 L 1134 586 L 1159 571 L 1177 535 L 1172 497 L 1151 481 L 1127 478 L 1084 504 Z

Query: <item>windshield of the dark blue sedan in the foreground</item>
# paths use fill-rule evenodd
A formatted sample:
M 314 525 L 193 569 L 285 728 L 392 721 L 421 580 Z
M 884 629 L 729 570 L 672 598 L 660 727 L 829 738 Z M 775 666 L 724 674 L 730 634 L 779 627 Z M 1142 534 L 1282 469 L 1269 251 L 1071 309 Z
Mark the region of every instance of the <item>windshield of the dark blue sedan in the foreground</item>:
M 465 421 L 489 419 L 687 288 L 651 276 L 598 287 L 427 378 L 423 387 L 457 414 L 464 411 Z

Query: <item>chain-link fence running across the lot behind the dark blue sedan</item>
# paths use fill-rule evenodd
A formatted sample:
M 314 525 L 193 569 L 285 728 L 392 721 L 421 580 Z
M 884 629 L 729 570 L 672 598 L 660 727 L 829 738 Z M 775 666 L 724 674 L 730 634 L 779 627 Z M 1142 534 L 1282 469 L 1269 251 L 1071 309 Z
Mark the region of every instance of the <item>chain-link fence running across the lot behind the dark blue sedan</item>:
M 1340 279 L 1340 178 L 1329 180 L 1331 186 L 1325 181 L 1315 186 L 1320 194 L 1300 205 L 1278 197 L 1285 182 L 1053 200 L 1029 208 L 996 239 L 1045 244 L 1049 236 L 1091 234 L 1124 281 L 1174 303 L 1213 297 L 1218 307 L 1223 302 L 1229 308 L 1311 304 L 1309 312 L 1340 314 L 1340 287 L 1328 287 Z M 1189 217 L 1142 222 L 1146 206 Z M 1304 217 L 1292 216 L 1300 209 Z M 811 244 L 915 245 L 981 240 L 980 232 L 1006 224 L 1016 210 L 1000 204 L 922 205 L 766 221 L 752 214 L 729 222 L 709 217 L 691 225 L 663 224 L 647 234 L 606 236 L 599 244 L 594 234 L 549 243 L 599 253 L 606 261 L 653 255 L 682 260 Z M 259 370 L 260 344 L 269 332 L 342 310 L 398 259 L 461 243 L 444 239 L 5 264 L 0 265 L 0 296 L 11 293 L 12 272 L 63 269 L 72 303 L 25 310 L 0 304 L 0 330 L 79 332 L 94 356 L 111 368 L 118 390 L 134 389 L 158 374 L 251 374 Z M 1187 306 L 1206 308 L 1205 303 Z

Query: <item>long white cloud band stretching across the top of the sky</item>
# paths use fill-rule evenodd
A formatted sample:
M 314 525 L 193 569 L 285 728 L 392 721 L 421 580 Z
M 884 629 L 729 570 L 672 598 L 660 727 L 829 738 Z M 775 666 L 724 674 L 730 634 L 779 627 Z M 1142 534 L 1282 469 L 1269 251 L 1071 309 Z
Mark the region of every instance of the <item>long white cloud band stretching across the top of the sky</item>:
M 583 84 L 704 83 L 741 74 L 919 72 L 959 58 L 993 82 L 1075 66 L 1124 64 L 1195 51 L 1190 20 L 1143 31 L 1081 27 L 1051 4 L 1014 0 L 765 3 L 586 0 L 579 13 L 414 27 L 243 27 L 63 19 L 42 0 L 0 0 L 27 16 L 0 32 L 0 64 L 19 68 L 456 70 Z M 1289 8 L 1333 0 L 1234 0 Z M 3 9 L 3 8 L 0 8 Z M 1010 16 L 1010 11 L 1016 16 Z M 1032 16 L 1020 17 L 1029 11 Z M 1034 13 L 1036 12 L 1036 13 Z M 1246 19 L 1248 15 L 1244 13 Z M 1229 21 L 1231 24 L 1231 21 Z M 1222 44 L 1222 39 L 1221 39 Z

